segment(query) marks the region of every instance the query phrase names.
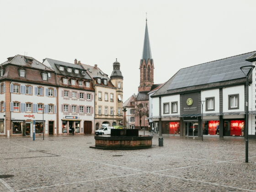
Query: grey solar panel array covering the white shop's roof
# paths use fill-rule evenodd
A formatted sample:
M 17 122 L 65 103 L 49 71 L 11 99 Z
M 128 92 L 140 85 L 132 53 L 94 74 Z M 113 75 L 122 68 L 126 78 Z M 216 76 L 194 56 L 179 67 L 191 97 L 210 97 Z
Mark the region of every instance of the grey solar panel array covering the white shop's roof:
M 175 75 L 168 90 L 243 78 L 245 75 L 240 67 L 251 65 L 252 63 L 245 59 L 254 53 L 256 52 L 181 69 Z

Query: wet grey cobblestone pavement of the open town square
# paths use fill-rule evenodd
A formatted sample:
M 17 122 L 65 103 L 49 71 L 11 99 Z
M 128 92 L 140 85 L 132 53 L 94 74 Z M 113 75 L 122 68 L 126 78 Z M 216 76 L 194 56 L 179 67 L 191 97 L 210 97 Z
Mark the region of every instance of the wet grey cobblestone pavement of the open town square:
M 141 150 L 94 144 L 92 135 L 0 138 L 0 192 L 256 192 L 255 140 L 249 163 L 244 139 L 164 136 L 164 147 Z

